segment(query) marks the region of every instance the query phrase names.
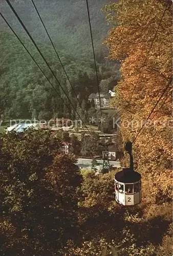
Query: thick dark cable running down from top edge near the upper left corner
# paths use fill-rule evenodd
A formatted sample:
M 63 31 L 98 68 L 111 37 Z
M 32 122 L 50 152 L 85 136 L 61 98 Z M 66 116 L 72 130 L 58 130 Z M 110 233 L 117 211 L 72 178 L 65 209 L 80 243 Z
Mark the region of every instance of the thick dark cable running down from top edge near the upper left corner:
M 74 111 L 77 113 L 77 115 L 80 118 L 80 115 L 78 114 L 78 112 L 76 111 L 74 105 L 72 104 L 71 100 L 69 99 L 68 95 L 66 94 L 66 92 L 63 90 L 63 88 L 61 87 L 60 82 L 58 81 L 57 77 L 55 76 L 54 72 L 52 71 L 51 67 L 49 66 L 49 63 L 47 62 L 47 60 L 45 59 L 44 55 L 42 55 L 42 53 L 40 52 L 39 48 L 37 47 L 34 39 L 32 38 L 32 36 L 30 35 L 29 31 L 27 30 L 27 28 L 25 27 L 25 25 L 23 24 L 23 22 L 21 21 L 21 19 L 19 18 L 18 14 L 16 13 L 16 11 L 14 10 L 13 6 L 11 5 L 11 3 L 9 2 L 9 0 L 6 0 L 7 4 L 10 6 L 11 10 L 13 11 L 13 13 L 15 14 L 15 16 L 17 17 L 19 23 L 21 24 L 21 26 L 24 28 L 24 30 L 26 31 L 27 35 L 30 37 L 31 41 L 33 42 L 34 46 L 36 47 L 37 51 L 39 52 L 39 54 L 41 55 L 41 57 L 44 59 L 44 61 L 46 62 L 46 65 L 48 66 L 49 70 L 51 71 L 51 73 L 53 74 L 53 76 L 55 77 L 56 81 L 58 82 L 60 88 L 62 89 L 63 93 L 66 95 L 66 97 L 68 98 L 70 104 L 72 105 Z M 80 118 L 81 119 L 81 118 Z M 82 119 L 81 119 L 82 121 Z M 84 124 L 84 122 L 83 122 Z M 86 127 L 86 129 L 88 130 L 87 126 L 84 124 L 84 126 Z M 88 132 L 90 133 L 90 131 L 88 130 Z M 91 133 L 90 133 L 91 134 Z M 92 135 L 91 135 L 92 136 Z

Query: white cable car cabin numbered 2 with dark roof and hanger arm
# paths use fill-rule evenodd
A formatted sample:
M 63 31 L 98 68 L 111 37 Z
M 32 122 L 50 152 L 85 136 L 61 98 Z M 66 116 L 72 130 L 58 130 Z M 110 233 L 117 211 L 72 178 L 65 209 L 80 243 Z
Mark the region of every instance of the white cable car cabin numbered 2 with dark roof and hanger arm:
M 125 143 L 130 156 L 130 168 L 122 168 L 115 174 L 115 200 L 121 205 L 136 205 L 141 202 L 141 175 L 134 171 L 132 142 Z

